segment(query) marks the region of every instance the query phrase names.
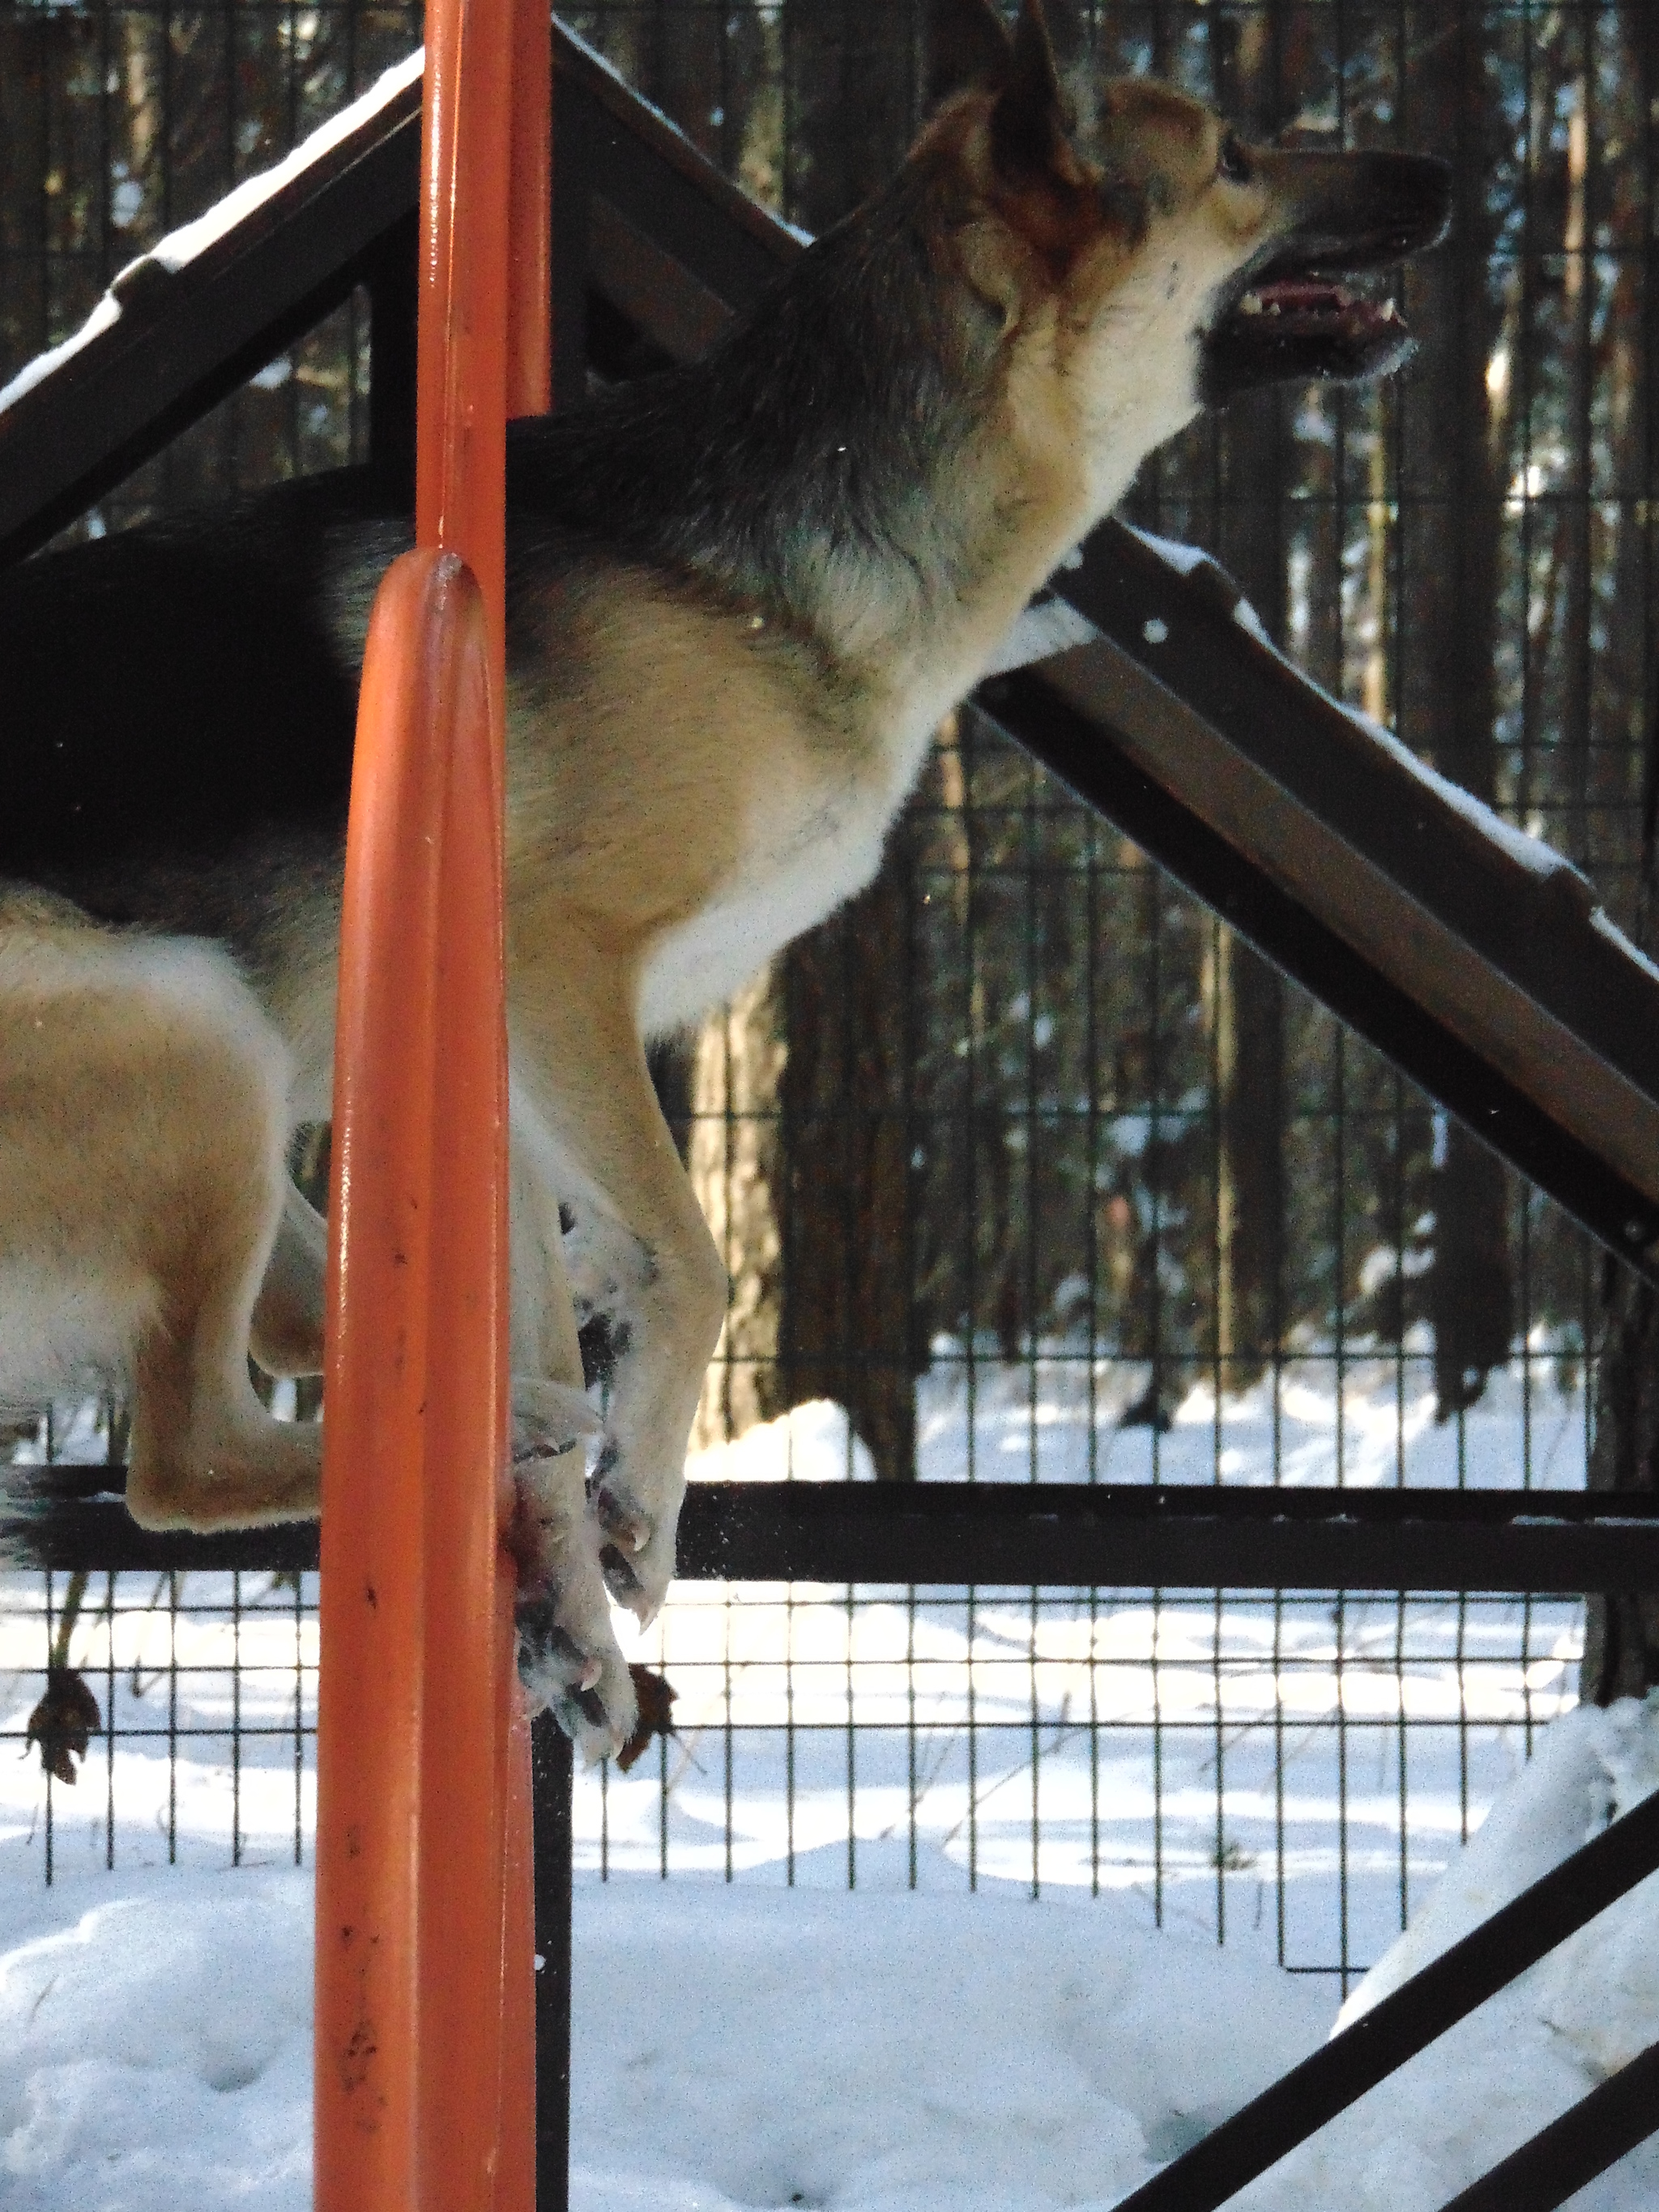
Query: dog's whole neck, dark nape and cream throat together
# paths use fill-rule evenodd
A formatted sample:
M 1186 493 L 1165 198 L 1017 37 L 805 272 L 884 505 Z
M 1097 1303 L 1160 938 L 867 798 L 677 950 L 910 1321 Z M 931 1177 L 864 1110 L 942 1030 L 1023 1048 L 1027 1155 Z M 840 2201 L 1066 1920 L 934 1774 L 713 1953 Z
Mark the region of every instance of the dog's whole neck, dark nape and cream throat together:
M 1075 332 L 1009 341 L 940 268 L 927 190 L 900 173 L 708 361 L 526 427 L 511 493 L 920 728 L 1183 418 L 1148 409 L 1133 343 L 1102 376 Z

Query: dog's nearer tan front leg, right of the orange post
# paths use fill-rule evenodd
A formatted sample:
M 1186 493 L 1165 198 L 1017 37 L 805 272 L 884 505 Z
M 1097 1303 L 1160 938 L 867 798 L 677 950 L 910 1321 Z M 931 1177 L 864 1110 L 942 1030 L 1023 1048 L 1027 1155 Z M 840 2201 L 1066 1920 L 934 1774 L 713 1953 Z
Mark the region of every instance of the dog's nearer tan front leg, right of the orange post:
M 630 964 L 577 920 L 538 929 L 542 947 L 509 982 L 513 1053 L 575 1214 L 577 1312 L 606 1323 L 591 1498 L 599 1555 L 613 1597 L 648 1621 L 675 1573 L 686 1438 L 726 1314 L 726 1270 L 650 1088 Z

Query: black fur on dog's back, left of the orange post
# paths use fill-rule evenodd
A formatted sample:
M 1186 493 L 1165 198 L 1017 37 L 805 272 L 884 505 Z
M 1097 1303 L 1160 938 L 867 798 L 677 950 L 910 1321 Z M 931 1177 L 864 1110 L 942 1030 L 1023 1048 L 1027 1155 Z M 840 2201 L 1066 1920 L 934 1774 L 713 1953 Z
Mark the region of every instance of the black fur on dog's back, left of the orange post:
M 356 686 L 319 604 L 341 473 L 0 577 L 0 874 L 62 887 L 345 821 Z

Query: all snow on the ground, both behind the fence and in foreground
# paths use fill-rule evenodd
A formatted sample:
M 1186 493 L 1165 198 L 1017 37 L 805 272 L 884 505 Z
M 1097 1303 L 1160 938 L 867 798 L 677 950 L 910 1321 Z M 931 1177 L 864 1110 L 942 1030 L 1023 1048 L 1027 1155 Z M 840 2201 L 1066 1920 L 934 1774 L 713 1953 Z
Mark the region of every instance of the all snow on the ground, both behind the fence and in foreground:
M 1219 1444 L 1248 1482 L 1274 1464 L 1332 1482 L 1338 1462 L 1356 1484 L 1584 1480 L 1584 1402 L 1542 1354 L 1447 1429 L 1413 1358 L 1349 1360 L 1340 1425 L 1329 1360 L 1219 1418 L 1192 1391 L 1159 1438 L 1115 1427 L 1141 1387 L 1064 1349 L 1020 1369 L 940 1360 L 925 1471 L 960 1473 L 971 1449 L 980 1478 L 1077 1480 L 1093 1451 L 1102 1480 L 1210 1480 Z M 60 1425 L 55 1444 L 97 1458 L 102 1438 Z M 818 1405 L 692 1473 L 836 1480 L 858 1462 Z M 0 1759 L 0 2203 L 301 2212 L 310 1878 L 292 1858 L 296 1836 L 310 1858 L 314 1814 L 314 1582 L 124 1577 L 113 1619 L 104 1595 L 73 1659 L 115 1739 L 51 1794 L 35 1759 Z M 1504 1893 L 1659 1765 L 1626 1712 L 1617 1743 L 1595 1734 L 1604 1717 L 1568 1721 L 1526 1770 L 1573 1705 L 1571 1604 L 849 1595 L 688 1584 L 637 1639 L 679 1692 L 679 1734 L 630 1776 L 577 1785 L 582 2212 L 1106 2205 L 1327 2031 L 1340 1982 L 1287 1975 L 1281 1953 L 1389 1975 L 1402 1887 L 1429 1942 L 1455 1898 Z M 42 1577 L 7 1577 L 0 1734 L 18 1750 L 44 1648 Z M 1484 1858 L 1458 1860 L 1493 1801 Z M 1630 1920 L 1604 1962 L 1628 1995 L 1615 2020 L 1646 2017 L 1659 1986 L 1652 1929 Z M 1604 1969 L 1584 1962 L 1582 1986 Z M 1449 2177 L 1613 2064 L 1601 2006 L 1562 2024 L 1564 1989 L 1548 2031 L 1458 2031 L 1480 2097 L 1451 2099 L 1431 2066 L 1416 2104 L 1367 2099 L 1338 2124 L 1345 2148 L 1310 2150 L 1301 2181 L 1267 2177 L 1259 2208 L 1438 2208 Z M 617 2110 L 626 2141 L 593 2117 Z M 1480 2139 L 1458 2135 L 1464 2110 Z M 1584 2205 L 1659 2201 L 1659 2170 L 1646 2181 Z

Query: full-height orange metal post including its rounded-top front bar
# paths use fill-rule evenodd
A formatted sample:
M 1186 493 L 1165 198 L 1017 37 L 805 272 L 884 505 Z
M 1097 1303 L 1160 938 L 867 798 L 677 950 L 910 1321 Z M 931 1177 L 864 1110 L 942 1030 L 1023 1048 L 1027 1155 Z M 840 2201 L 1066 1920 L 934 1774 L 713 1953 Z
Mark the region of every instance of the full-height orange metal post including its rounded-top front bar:
M 502 699 L 504 416 L 546 407 L 551 378 L 549 44 L 535 0 L 427 11 L 418 551 L 369 628 L 341 942 L 319 2212 L 535 2194 L 529 1728 L 500 1546 Z

